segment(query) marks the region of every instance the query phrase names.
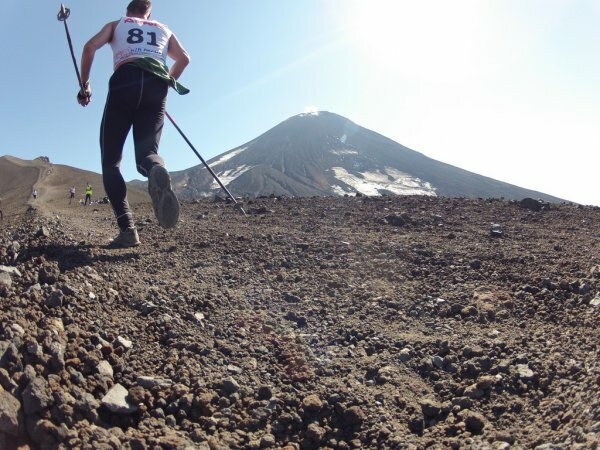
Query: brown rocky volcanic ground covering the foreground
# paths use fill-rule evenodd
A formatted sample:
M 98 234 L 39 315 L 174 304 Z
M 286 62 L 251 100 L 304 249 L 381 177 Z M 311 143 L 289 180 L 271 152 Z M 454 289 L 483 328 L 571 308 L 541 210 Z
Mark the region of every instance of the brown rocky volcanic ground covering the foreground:
M 537 206 L 139 204 L 110 250 L 40 202 L 0 225 L 0 448 L 598 448 L 600 208 Z

